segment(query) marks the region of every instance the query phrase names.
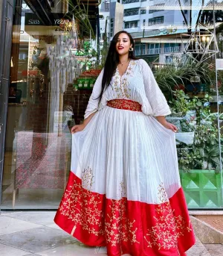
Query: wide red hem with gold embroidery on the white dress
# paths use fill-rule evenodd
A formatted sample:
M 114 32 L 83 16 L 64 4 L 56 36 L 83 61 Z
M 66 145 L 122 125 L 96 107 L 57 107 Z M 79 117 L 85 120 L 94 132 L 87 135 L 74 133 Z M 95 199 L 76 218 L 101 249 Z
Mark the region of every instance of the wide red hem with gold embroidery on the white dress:
M 54 222 L 86 246 L 106 246 L 109 256 L 185 256 L 195 244 L 182 188 L 160 205 L 112 200 L 85 190 L 71 172 Z

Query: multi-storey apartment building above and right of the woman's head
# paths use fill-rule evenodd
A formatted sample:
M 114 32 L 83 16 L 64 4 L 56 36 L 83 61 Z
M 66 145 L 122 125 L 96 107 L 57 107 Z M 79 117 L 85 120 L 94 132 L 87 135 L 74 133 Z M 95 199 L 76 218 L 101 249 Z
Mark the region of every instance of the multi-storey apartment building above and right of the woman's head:
M 105 18 L 108 19 L 107 31 L 109 37 L 114 36 L 114 21 L 118 21 L 119 28 L 128 31 L 135 39 L 135 54 L 146 58 L 149 62 L 171 63 L 181 58 L 186 39 L 181 39 L 181 34 L 186 31 L 184 17 L 179 10 L 178 1 L 174 0 L 120 0 L 123 4 L 123 20 L 121 16 L 115 19 L 114 7 L 109 10 L 109 3 L 118 1 L 104 0 L 100 13 L 104 19 L 100 19 L 101 33 L 104 33 Z M 120 10 L 119 4 L 119 10 Z M 188 0 L 181 0 L 183 8 L 187 9 Z M 189 11 L 184 10 L 188 19 Z

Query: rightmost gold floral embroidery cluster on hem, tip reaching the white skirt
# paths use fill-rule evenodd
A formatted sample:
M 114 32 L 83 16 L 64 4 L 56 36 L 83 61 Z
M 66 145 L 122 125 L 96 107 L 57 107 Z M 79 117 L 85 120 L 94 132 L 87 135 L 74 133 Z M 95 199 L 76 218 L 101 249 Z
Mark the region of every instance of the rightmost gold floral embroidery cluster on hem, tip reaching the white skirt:
M 169 204 L 169 199 L 161 184 L 158 188 L 158 196 L 161 204 L 155 209 L 157 215 L 153 216 L 155 225 L 148 229 L 144 236 L 147 247 L 158 246 L 158 249 L 170 249 L 178 247 L 178 237 L 184 236 L 185 231 L 192 231 L 190 222 L 187 223 L 181 215 L 174 216 L 174 211 Z

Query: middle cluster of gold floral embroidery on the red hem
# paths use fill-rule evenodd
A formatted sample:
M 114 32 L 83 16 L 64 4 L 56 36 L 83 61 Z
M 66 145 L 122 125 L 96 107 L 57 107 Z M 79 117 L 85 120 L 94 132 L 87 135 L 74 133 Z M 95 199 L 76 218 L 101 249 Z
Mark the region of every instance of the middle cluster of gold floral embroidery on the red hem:
M 139 243 L 136 237 L 138 228 L 134 227 L 135 220 L 127 218 L 127 199 L 111 200 L 110 211 L 106 216 L 106 241 L 111 246 L 123 242 Z

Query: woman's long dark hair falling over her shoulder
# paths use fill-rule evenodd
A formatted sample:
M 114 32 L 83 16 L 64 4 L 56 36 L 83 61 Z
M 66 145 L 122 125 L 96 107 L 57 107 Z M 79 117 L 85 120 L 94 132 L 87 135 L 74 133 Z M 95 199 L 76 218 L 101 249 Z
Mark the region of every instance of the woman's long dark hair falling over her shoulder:
M 125 33 L 129 39 L 130 39 L 130 45 L 132 44 L 132 48 L 135 48 L 134 40 L 127 31 L 119 31 L 117 34 L 114 35 L 114 37 L 111 40 L 109 51 L 106 57 L 106 63 L 104 66 L 104 73 L 103 73 L 103 80 L 102 80 L 102 90 L 100 93 L 100 96 L 98 97 L 101 99 L 104 90 L 106 90 L 107 87 L 109 87 L 109 84 L 111 82 L 111 78 L 114 75 L 114 72 L 117 68 L 117 64 L 119 63 L 119 55 L 116 51 L 116 44 L 117 39 L 120 34 Z M 129 58 L 132 60 L 137 60 L 137 57 L 135 57 L 134 51 L 129 51 Z

